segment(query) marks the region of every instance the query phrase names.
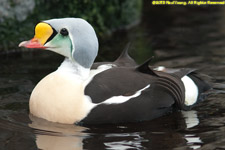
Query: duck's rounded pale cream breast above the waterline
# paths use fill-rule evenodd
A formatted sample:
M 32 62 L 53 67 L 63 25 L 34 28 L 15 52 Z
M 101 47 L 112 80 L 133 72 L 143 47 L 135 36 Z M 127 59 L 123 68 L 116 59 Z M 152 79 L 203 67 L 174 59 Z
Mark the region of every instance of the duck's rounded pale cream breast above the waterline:
M 42 79 L 30 97 L 30 112 L 52 122 L 75 123 L 93 107 L 84 95 L 83 81 L 59 71 Z

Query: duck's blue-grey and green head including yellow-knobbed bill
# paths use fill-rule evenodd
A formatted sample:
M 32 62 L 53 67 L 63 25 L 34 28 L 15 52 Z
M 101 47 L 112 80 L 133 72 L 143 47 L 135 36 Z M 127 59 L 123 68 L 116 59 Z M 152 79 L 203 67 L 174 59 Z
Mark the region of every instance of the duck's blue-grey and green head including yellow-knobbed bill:
M 38 23 L 34 38 L 21 42 L 19 47 L 47 49 L 90 68 L 98 53 L 98 39 L 83 19 L 51 19 Z

